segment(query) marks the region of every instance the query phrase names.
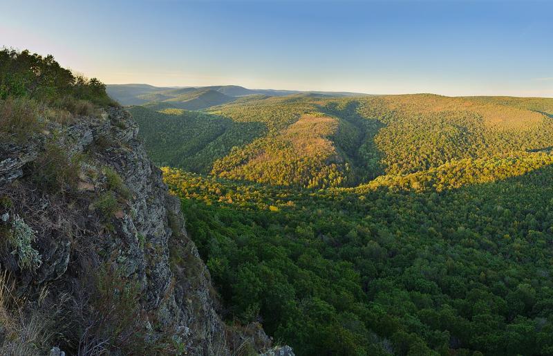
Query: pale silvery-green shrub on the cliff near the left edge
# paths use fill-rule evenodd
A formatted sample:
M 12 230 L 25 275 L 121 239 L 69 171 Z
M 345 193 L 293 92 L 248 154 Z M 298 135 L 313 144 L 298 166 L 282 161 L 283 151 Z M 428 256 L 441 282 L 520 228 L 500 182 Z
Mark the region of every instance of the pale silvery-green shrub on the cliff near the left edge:
M 34 271 L 42 264 L 42 256 L 31 246 L 31 243 L 37 240 L 35 234 L 36 232 L 19 215 L 15 216 L 12 229 L 8 234 L 8 242 L 15 247 L 12 254 L 17 254 L 21 269 Z

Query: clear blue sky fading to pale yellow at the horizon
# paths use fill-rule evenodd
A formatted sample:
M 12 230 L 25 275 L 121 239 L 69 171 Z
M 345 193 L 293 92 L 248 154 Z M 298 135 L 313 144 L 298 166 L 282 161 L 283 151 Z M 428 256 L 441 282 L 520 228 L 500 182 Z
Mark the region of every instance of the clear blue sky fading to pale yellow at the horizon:
M 107 84 L 553 97 L 552 1 L 0 0 L 0 46 Z

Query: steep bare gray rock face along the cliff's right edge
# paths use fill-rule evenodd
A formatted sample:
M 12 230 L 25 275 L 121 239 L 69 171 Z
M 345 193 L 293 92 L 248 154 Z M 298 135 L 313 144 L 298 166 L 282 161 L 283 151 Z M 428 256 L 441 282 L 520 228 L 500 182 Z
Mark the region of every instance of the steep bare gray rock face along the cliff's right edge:
M 136 139 L 138 127 L 126 111 L 110 109 L 106 125 L 92 131 L 95 140 L 118 142 L 99 160 L 117 171 L 131 196 L 116 219 L 107 250 L 117 252 L 118 267 L 126 277 L 141 281 L 144 309 L 163 327 L 173 328 L 188 353 L 209 355 L 216 346 L 219 354 L 228 354 L 221 339 L 225 326 L 209 294 L 209 272 L 186 234 L 180 202 L 169 196 L 161 171 Z M 181 256 L 186 263 L 171 270 L 169 249 L 176 245 L 187 254 Z

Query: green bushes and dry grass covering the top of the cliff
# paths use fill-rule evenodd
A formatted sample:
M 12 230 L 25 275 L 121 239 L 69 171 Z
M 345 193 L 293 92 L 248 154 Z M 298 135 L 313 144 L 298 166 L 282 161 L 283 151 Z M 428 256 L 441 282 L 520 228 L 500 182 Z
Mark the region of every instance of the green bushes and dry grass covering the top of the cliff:
M 0 49 L 0 140 L 25 142 L 48 122 L 100 115 L 116 106 L 99 80 L 62 68 L 48 55 Z

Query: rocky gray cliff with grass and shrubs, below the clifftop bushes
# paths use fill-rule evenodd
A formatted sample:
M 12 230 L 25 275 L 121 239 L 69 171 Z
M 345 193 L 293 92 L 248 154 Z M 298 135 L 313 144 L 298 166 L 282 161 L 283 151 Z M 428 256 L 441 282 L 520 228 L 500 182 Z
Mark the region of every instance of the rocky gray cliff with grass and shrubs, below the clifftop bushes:
M 111 108 L 0 142 L 2 353 L 269 348 L 261 327 L 221 321 L 180 203 L 137 133 L 129 113 Z

